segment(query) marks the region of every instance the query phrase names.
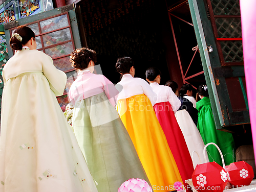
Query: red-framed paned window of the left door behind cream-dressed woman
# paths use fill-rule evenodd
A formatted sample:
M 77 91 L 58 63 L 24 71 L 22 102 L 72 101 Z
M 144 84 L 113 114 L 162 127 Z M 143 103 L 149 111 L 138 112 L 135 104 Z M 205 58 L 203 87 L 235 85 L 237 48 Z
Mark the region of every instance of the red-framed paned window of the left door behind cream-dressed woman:
M 49 55 L 53 59 L 54 66 L 66 73 L 68 77 L 67 85 L 63 95 L 57 97 L 57 100 L 60 107 L 68 104 L 67 94 L 71 84 L 76 79 L 74 76 L 76 71 L 69 62 L 70 53 L 75 49 L 69 12 L 63 12 L 44 19 L 35 19 L 35 21 L 24 25 L 35 32 L 36 49 Z M 15 28 L 9 29 L 10 36 Z

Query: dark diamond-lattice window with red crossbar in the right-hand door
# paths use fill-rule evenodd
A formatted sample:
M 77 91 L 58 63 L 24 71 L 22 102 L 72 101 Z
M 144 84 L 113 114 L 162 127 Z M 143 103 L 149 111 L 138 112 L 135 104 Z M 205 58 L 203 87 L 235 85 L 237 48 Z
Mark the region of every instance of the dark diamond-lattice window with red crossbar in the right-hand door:
M 222 65 L 243 65 L 239 0 L 207 0 Z

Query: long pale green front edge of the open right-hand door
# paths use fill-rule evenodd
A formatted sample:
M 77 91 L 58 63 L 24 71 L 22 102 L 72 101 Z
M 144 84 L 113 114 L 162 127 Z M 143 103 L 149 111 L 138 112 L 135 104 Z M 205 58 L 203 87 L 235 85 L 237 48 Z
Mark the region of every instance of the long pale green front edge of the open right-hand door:
M 216 105 L 216 103 L 219 103 L 218 92 L 216 90 L 215 80 L 212 75 L 212 69 L 211 69 L 211 64 L 209 60 L 207 44 L 205 41 L 205 35 L 203 31 L 198 4 L 196 0 L 188 0 L 188 4 L 189 4 L 189 9 L 190 9 L 191 17 L 193 20 L 193 24 L 194 24 L 194 29 L 195 29 L 198 47 L 200 51 L 200 57 L 201 57 L 203 69 L 204 69 L 205 80 L 208 87 L 211 107 L 214 113 L 216 128 L 222 129 L 222 125 L 224 125 L 224 119 L 222 115 L 219 115 L 219 114 L 222 114 L 220 106 Z

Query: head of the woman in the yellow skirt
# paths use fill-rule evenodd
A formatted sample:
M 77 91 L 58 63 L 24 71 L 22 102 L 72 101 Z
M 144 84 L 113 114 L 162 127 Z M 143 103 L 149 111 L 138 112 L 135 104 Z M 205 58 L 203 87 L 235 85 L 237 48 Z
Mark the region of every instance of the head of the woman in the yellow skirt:
M 116 70 L 119 74 L 131 74 L 135 75 L 134 62 L 131 57 L 120 57 L 116 62 Z

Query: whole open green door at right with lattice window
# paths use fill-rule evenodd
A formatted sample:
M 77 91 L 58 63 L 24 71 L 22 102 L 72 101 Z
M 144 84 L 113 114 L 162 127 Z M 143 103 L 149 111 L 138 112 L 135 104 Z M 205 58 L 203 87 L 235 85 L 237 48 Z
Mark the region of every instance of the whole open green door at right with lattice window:
M 217 129 L 248 124 L 239 0 L 188 0 Z

